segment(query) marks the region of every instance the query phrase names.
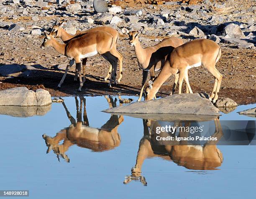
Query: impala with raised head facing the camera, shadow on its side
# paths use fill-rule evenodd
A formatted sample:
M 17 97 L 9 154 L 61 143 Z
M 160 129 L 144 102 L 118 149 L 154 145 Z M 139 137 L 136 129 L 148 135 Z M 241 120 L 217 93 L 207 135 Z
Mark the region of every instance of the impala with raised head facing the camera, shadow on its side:
M 172 52 L 173 48 L 183 44 L 182 39 L 179 39 L 177 37 L 169 37 L 154 46 L 142 48 L 139 42 L 138 35 L 140 35 L 143 30 L 143 26 L 138 31 L 131 32 L 129 32 L 127 28 L 122 28 L 123 33 L 129 34 L 129 44 L 134 46 L 135 54 L 138 60 L 138 66 L 142 69 L 142 87 L 138 101 L 141 101 L 143 89 L 148 77 L 148 71 L 150 73 L 151 79 L 154 79 L 155 71 L 161 70 L 161 68 L 164 66 L 167 55 Z M 175 90 L 178 78 L 179 75 L 175 75 L 176 84 L 174 83 L 173 85 L 171 95 Z

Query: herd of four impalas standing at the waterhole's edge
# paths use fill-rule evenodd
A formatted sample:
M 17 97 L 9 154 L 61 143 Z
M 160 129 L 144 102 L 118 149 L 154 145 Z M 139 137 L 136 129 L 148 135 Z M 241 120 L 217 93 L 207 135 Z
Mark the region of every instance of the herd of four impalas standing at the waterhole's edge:
M 69 35 L 62 26 L 65 24 L 64 20 L 59 23 L 56 21 L 47 34 L 45 32 L 44 42 L 41 47 L 54 47 L 54 49 L 61 55 L 65 55 L 69 59 L 69 65 L 58 85 L 63 83 L 69 68 L 76 63 L 76 73 L 74 80 L 79 75 L 79 91 L 85 82 L 85 65 L 88 57 L 100 54 L 108 62 L 110 67 L 105 81 L 111 74 L 109 86 L 120 82 L 123 71 L 123 56 L 117 51 L 116 45 L 119 39 L 118 31 L 108 26 L 99 26 L 85 31 L 77 31 L 75 35 Z M 184 44 L 183 40 L 177 37 L 169 37 L 158 44 L 142 48 L 138 36 L 143 32 L 144 27 L 138 31 L 129 31 L 127 28 L 122 28 L 123 34 L 129 35 L 129 44 L 134 46 L 138 66 L 143 71 L 143 80 L 140 96 L 141 100 L 143 89 L 147 80 L 148 71 L 151 79 L 148 82 L 148 87 L 145 92 L 145 100 L 152 100 L 156 97 L 156 93 L 163 83 L 171 75 L 175 76 L 174 85 L 170 95 L 174 94 L 176 85 L 179 81 L 179 94 L 182 91 L 182 82 L 186 82 L 186 93 L 192 93 L 189 85 L 188 70 L 193 67 L 203 65 L 215 77 L 215 83 L 210 95 L 210 100 L 215 103 L 218 99 L 218 92 L 222 75 L 216 69 L 215 65 L 220 59 L 221 49 L 218 44 L 212 40 L 198 39 L 192 40 Z M 61 37 L 64 44 L 59 43 L 55 37 Z M 82 65 L 81 65 L 82 60 Z M 116 80 L 116 70 L 119 63 L 119 77 Z M 160 71 L 158 77 L 155 77 L 155 71 Z

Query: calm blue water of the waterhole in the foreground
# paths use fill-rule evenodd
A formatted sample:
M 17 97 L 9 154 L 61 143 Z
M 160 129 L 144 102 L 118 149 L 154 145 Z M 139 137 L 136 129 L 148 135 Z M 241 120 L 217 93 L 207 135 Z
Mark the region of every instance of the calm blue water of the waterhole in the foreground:
M 147 186 L 143 186 L 139 177 L 123 184 L 136 164 L 139 142 L 143 137 L 142 119 L 124 116 L 122 122 L 122 118 L 110 118 L 110 114 L 101 112 L 109 107 L 105 97 L 85 99 L 88 122 L 90 127 L 96 128 L 85 129 L 92 137 L 96 132 L 104 137 L 102 140 L 109 139 L 108 142 L 89 142 L 87 138 L 78 139 L 76 136 L 60 138 L 60 142 L 52 144 L 51 151 L 46 154 L 49 148 L 43 134 L 49 140 L 58 132 L 61 136 L 72 134 L 72 128 L 67 128 L 71 122 L 63 104 L 52 104 L 44 116 L 19 118 L 0 115 L 1 190 L 29 190 L 33 199 L 256 197 L 256 146 L 250 145 L 218 146 L 223 162 L 216 170 L 192 170 L 163 157 L 147 158 L 141 168 Z M 77 118 L 83 121 L 84 117 L 83 114 L 77 115 L 74 97 L 66 97 L 64 102 L 76 122 L 71 120 L 78 126 Z M 80 105 L 79 98 L 78 102 Z M 239 106 L 220 119 L 255 120 L 236 113 L 255 105 Z M 103 132 L 100 127 L 109 126 L 107 121 L 115 129 Z

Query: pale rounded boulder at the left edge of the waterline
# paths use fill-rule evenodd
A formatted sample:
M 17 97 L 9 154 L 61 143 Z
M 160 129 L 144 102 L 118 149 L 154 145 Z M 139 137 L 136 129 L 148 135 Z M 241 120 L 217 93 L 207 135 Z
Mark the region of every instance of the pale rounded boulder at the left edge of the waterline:
M 26 87 L 16 87 L 0 91 L 0 106 L 46 106 L 49 104 L 51 104 L 51 95 L 43 89 L 34 92 Z

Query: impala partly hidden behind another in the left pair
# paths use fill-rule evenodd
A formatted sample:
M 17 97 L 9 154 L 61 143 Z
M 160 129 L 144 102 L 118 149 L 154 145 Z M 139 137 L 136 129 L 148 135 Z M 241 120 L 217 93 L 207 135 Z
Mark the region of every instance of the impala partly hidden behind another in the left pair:
M 61 40 L 64 43 L 69 42 L 70 40 L 72 40 L 72 38 L 76 37 L 77 35 L 81 35 L 84 33 L 88 33 L 88 32 L 95 32 L 95 31 L 104 31 L 104 32 L 108 32 L 110 35 L 112 35 L 114 37 L 114 42 L 113 42 L 113 47 L 110 50 L 110 53 L 112 55 L 114 55 L 115 57 L 118 58 L 118 63 L 119 63 L 119 77 L 117 82 L 120 82 L 122 76 L 123 76 L 123 56 L 116 50 L 116 43 L 118 42 L 119 39 L 119 34 L 118 31 L 115 30 L 112 27 L 108 27 L 108 26 L 99 26 L 99 27 L 94 27 L 90 30 L 84 30 L 84 31 L 78 31 L 75 35 L 70 35 L 69 33 L 67 33 L 62 27 L 65 25 L 66 21 L 65 20 L 61 20 L 58 24 L 57 24 L 57 20 L 54 24 L 54 26 L 51 29 L 50 35 L 53 37 L 61 37 Z M 87 57 L 84 58 L 82 60 L 82 65 L 83 65 L 83 75 L 85 76 L 85 65 L 87 62 Z M 68 66 L 67 66 L 68 67 Z M 69 65 L 69 67 L 71 67 L 71 65 Z M 77 69 L 76 69 L 76 74 L 75 74 L 75 79 L 77 79 Z M 112 65 L 110 65 L 109 70 L 108 70 L 108 74 L 106 75 L 106 77 L 104 78 L 105 81 L 107 81 L 108 77 L 110 76 L 112 71 Z

